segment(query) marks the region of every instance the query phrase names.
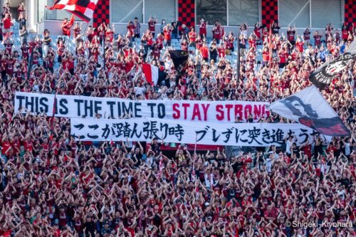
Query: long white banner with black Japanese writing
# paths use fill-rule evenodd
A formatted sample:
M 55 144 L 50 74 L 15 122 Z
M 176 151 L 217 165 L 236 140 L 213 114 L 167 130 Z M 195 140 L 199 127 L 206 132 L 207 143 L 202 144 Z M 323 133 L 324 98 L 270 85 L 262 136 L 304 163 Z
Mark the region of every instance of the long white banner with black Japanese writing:
M 300 124 L 187 122 L 153 120 L 70 119 L 70 132 L 82 141 L 150 141 L 216 144 L 244 147 L 280 146 L 285 137 L 294 135 L 297 144 L 310 141 L 317 132 Z

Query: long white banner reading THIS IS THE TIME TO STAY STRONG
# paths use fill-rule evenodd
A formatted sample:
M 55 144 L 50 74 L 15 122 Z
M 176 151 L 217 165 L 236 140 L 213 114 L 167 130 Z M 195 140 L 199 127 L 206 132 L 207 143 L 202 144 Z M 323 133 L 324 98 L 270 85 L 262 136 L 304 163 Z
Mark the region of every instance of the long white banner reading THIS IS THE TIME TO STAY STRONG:
M 15 112 L 19 109 L 33 113 L 53 115 L 55 95 L 16 92 Z M 167 120 L 234 122 L 236 117 L 246 121 L 252 115 L 256 122 L 268 117 L 268 102 L 248 101 L 194 101 L 194 100 L 125 100 L 120 98 L 94 98 L 78 95 L 56 95 L 56 117 L 102 118 L 152 117 Z M 22 110 L 22 112 L 26 112 Z

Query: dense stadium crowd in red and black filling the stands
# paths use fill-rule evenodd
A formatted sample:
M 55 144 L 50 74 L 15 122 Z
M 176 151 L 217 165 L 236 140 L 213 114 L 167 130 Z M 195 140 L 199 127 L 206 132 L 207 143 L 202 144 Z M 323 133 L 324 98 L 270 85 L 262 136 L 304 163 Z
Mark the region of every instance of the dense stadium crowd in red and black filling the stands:
M 117 37 L 113 26 L 82 32 L 79 23 L 65 20 L 58 42 L 49 31 L 36 38 L 26 34 L 16 51 L 6 6 L 4 13 L 0 236 L 356 236 L 355 62 L 322 91 L 352 137 L 326 142 L 316 135 L 297 147 L 290 136 L 283 147 L 258 147 L 256 154 L 227 156 L 224 149 L 194 154 L 182 144 L 166 156 L 157 139 L 75 142 L 68 118 L 14 111 L 15 91 L 273 102 L 311 85 L 310 73 L 353 41 L 352 26 L 339 32 L 328 24 L 325 36 L 309 29 L 296 36 L 290 27 L 284 37 L 274 23 L 269 42 L 269 29 L 261 23 L 249 36 L 241 24 L 234 36 L 216 22 L 208 43 L 204 19 L 199 32 L 163 21 L 162 32 L 155 32 L 157 19 L 150 18 L 142 36 L 135 19 Z M 66 47 L 72 38 L 75 52 Z M 172 38 L 190 54 L 182 73 L 168 53 Z M 236 51 L 235 42 L 241 51 L 239 76 L 226 59 Z M 141 67 L 147 61 L 167 75 L 157 86 L 146 83 Z M 236 117 L 236 122 L 251 120 Z M 291 121 L 272 114 L 259 122 Z M 320 226 L 288 226 L 288 221 Z M 351 225 L 321 226 L 325 221 Z

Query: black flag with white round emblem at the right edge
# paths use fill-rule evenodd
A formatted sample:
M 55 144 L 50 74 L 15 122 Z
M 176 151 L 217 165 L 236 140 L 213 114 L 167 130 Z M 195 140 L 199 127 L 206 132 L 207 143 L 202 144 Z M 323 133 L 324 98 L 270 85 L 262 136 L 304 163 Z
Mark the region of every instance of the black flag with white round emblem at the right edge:
M 324 63 L 317 70 L 310 74 L 309 80 L 316 85 L 320 90 L 323 90 L 326 86 L 330 85 L 331 80 L 338 73 L 342 73 L 352 61 L 356 60 L 356 43 L 352 42 L 347 51 L 331 60 L 328 63 Z

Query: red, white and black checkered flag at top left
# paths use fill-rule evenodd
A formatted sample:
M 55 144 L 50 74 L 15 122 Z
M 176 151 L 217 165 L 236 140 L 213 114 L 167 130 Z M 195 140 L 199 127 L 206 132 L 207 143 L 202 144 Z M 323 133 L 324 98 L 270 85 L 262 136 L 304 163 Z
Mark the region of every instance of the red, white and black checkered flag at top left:
M 50 10 L 67 10 L 85 22 L 93 18 L 93 13 L 99 0 L 56 0 Z

